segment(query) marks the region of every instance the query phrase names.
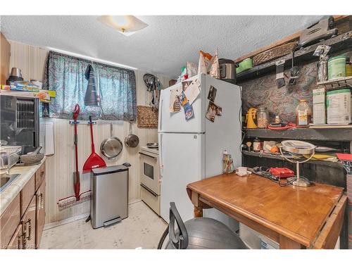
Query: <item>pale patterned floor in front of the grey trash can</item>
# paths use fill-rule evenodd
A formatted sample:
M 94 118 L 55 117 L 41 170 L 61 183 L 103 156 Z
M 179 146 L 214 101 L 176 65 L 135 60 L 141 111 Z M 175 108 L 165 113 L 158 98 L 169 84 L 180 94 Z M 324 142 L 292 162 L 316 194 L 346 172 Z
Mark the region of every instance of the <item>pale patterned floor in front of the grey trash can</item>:
M 156 249 L 166 223 L 142 201 L 129 206 L 129 216 L 96 230 L 84 219 L 45 230 L 40 249 Z

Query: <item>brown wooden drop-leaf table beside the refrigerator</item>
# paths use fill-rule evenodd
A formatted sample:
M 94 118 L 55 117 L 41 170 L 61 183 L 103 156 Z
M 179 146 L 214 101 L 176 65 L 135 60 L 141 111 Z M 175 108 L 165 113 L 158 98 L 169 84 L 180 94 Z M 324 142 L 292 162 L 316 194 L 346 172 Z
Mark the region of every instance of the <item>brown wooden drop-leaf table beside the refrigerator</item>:
M 346 208 L 340 187 L 279 187 L 258 175 L 210 177 L 188 184 L 187 193 L 194 217 L 216 208 L 276 241 L 280 249 L 333 249 Z

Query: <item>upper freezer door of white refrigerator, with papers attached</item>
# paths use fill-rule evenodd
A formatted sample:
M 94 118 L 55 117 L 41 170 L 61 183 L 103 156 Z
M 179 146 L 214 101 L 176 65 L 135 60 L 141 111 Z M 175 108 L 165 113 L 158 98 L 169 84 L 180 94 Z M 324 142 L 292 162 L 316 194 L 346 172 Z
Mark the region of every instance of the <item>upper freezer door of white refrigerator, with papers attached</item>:
M 167 89 L 161 90 L 161 99 L 159 102 L 158 132 L 204 132 L 204 100 L 205 94 L 203 90 L 203 80 L 205 75 L 196 75 L 188 80 L 197 79 L 201 82 L 201 93 L 197 99 L 191 104 L 194 111 L 194 118 L 186 120 L 184 118 L 184 109 L 176 113 L 170 113 L 170 91 L 172 89 L 182 90 L 182 83 L 172 85 Z

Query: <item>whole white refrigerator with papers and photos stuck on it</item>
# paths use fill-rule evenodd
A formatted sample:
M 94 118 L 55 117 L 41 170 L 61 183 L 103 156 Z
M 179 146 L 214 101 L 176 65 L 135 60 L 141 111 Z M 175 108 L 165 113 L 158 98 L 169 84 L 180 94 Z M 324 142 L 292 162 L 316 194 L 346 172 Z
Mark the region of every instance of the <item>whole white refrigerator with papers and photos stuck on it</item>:
M 222 173 L 222 152 L 227 150 L 234 165 L 241 165 L 241 88 L 217 80 L 209 75 L 196 75 L 200 94 L 191 104 L 194 118 L 186 120 L 184 109 L 170 113 L 170 91 L 182 84 L 161 91 L 158 114 L 159 162 L 161 166 L 161 217 L 169 222 L 170 202 L 174 201 L 182 220 L 194 217 L 194 207 L 187 196 L 190 182 Z M 210 86 L 217 89 L 214 103 L 222 108 L 222 115 L 214 122 L 206 119 Z M 236 225 L 215 209 L 204 210 L 204 216 Z M 236 227 L 232 227 L 236 229 Z

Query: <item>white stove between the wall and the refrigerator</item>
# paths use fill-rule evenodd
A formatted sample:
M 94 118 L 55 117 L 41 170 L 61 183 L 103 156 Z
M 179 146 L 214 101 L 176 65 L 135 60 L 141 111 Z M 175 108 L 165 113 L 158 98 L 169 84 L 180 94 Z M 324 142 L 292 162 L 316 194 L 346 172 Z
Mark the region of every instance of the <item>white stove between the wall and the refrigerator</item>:
M 142 201 L 160 215 L 161 180 L 159 150 L 141 146 L 139 151 L 139 167 Z

